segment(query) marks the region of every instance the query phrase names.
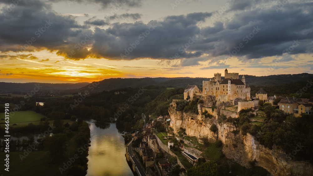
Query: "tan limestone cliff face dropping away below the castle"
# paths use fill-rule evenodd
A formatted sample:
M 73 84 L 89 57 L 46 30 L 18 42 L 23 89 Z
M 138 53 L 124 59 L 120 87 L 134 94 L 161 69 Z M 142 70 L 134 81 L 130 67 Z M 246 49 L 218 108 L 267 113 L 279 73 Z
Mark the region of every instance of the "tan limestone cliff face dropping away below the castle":
M 213 103 L 209 103 L 210 101 L 204 99 L 205 104 L 212 106 Z M 219 124 L 217 121 L 219 111 L 214 111 L 213 118 L 209 119 L 201 115 L 202 107 L 200 105 L 198 105 L 198 110 L 199 115 L 196 115 L 176 111 L 174 106 L 170 106 L 168 110 L 171 117 L 170 126 L 174 133 L 179 132 L 180 128 L 184 128 L 187 135 L 196 136 L 198 140 L 207 137 L 209 142 L 215 142 L 219 139 L 224 143 L 223 153 L 227 158 L 231 158 L 245 167 L 249 167 L 249 162 L 255 159 L 257 166 L 265 168 L 274 176 L 312 175 L 312 164 L 304 161 L 293 161 L 284 151 L 275 148 L 275 146 L 272 150 L 265 148 L 249 133 L 245 136 L 238 133 L 239 129 L 237 130 L 233 124 Z M 218 132 L 213 133 L 209 130 L 212 124 L 216 124 Z

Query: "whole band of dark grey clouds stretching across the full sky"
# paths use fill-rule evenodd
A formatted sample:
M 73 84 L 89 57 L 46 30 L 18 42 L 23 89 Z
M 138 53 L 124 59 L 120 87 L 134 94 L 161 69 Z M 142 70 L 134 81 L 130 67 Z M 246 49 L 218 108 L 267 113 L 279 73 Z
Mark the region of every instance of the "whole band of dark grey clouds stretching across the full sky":
M 93 2 L 110 4 L 112 1 Z M 147 24 L 113 23 L 107 29 L 96 27 L 91 31 L 90 25 L 105 25 L 105 21 L 91 18 L 85 25 L 79 25 L 74 17 L 56 14 L 43 1 L 30 0 L 27 4 L 21 1 L 6 16 L 0 14 L 0 51 L 19 52 L 26 41 L 34 37 L 36 41 L 27 51 L 48 49 L 63 56 L 74 52 L 71 59 L 88 56 L 115 60 L 181 59 L 177 64 L 180 66 L 199 65 L 205 60 L 202 58 L 233 56 L 230 53 L 241 59 L 313 53 L 312 2 L 288 1 L 279 11 L 276 5 L 264 4 L 266 0 L 251 2 L 234 3 L 230 12 L 236 13 L 230 20 L 219 22 L 217 19 L 209 27 L 200 28 L 198 24 L 208 20 L 212 13 L 190 13 Z M 1 10 L 7 7 L 8 4 Z M 141 17 L 128 13 L 114 16 L 111 17 L 134 20 Z M 53 24 L 37 37 L 35 32 L 47 22 Z

